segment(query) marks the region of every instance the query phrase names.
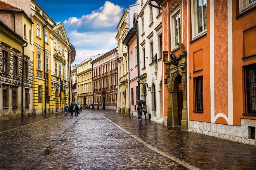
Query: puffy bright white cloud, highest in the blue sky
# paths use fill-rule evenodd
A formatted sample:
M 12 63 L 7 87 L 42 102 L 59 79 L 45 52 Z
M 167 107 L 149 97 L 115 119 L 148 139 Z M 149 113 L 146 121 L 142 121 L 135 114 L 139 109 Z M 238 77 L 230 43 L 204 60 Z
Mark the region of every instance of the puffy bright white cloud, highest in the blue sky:
M 112 2 L 106 1 L 104 6 L 100 7 L 99 10 L 94 10 L 91 14 L 83 15 L 81 18 L 70 17 L 68 20 L 64 21 L 64 25 L 72 28 L 116 26 L 122 15 L 122 11 L 123 8 L 119 5 L 114 5 Z

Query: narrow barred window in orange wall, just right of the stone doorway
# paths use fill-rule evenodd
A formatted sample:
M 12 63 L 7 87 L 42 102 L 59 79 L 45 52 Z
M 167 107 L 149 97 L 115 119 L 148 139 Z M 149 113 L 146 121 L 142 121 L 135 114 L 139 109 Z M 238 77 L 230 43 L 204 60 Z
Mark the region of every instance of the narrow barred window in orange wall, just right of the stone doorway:
M 204 111 L 204 100 L 203 100 L 203 78 L 195 78 L 195 112 Z

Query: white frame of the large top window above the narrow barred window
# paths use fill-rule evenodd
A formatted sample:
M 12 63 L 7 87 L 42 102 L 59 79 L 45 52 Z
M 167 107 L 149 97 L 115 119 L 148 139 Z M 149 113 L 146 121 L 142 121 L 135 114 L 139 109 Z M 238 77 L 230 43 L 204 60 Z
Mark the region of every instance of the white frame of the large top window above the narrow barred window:
M 191 1 L 191 19 L 192 19 L 192 40 L 200 37 L 200 36 L 203 36 L 204 34 L 207 33 L 207 25 L 206 25 L 206 28 L 204 29 L 203 28 L 203 31 L 200 32 L 200 33 L 197 33 L 198 32 L 198 27 L 197 27 L 197 9 L 196 9 L 196 5 L 197 5 L 197 1 L 204 1 L 204 0 L 192 0 Z M 206 0 L 205 0 L 206 1 Z M 206 3 L 206 10 L 207 10 L 207 3 Z M 203 13 L 203 12 L 202 12 Z M 207 11 L 206 11 L 207 13 Z M 207 18 L 207 15 L 206 15 L 206 18 Z M 202 26 L 204 27 L 204 23 L 203 23 L 204 19 L 202 17 Z M 206 22 L 207 22 L 207 19 L 206 19 Z M 206 23 L 207 24 L 207 23 Z

